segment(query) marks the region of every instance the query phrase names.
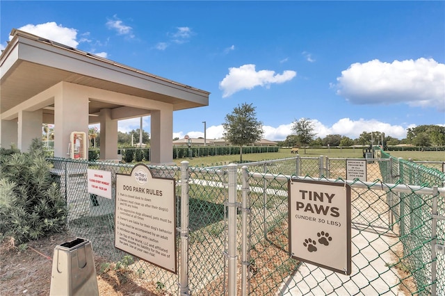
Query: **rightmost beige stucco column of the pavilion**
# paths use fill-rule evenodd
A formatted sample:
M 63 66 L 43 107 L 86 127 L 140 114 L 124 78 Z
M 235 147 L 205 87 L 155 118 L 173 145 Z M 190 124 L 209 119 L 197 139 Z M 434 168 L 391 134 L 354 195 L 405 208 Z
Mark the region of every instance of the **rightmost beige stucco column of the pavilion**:
M 173 107 L 151 112 L 151 159 L 153 164 L 173 163 Z

